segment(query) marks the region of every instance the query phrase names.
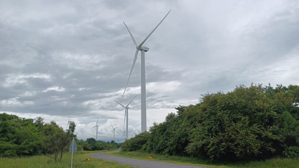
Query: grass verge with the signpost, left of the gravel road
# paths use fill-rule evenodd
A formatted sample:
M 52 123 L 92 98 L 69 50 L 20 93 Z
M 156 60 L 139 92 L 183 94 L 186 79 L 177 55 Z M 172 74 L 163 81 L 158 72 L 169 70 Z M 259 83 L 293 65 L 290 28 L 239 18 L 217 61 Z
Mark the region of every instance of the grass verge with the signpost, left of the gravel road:
M 89 158 L 87 155 L 94 152 L 105 151 L 78 151 L 73 155 L 73 168 L 131 168 L 131 166 L 120 165 L 117 162 L 109 162 L 103 159 Z M 21 158 L 0 158 L 1 168 L 70 168 L 71 153 L 64 153 L 60 162 L 54 162 L 46 156 L 31 156 Z M 86 162 L 86 158 L 90 162 Z

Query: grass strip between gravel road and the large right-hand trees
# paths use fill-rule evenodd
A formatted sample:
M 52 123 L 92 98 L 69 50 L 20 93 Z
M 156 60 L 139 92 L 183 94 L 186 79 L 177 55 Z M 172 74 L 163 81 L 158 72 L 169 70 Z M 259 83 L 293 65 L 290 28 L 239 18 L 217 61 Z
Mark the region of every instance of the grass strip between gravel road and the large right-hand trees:
M 299 159 L 267 159 L 265 161 L 252 161 L 252 162 L 212 162 L 206 159 L 196 159 L 191 157 L 180 156 L 165 156 L 145 152 L 110 152 L 109 155 L 122 156 L 135 159 L 146 159 L 146 156 L 152 157 L 154 161 L 171 162 L 177 164 L 186 164 L 193 166 L 217 167 L 217 168 L 298 168 Z

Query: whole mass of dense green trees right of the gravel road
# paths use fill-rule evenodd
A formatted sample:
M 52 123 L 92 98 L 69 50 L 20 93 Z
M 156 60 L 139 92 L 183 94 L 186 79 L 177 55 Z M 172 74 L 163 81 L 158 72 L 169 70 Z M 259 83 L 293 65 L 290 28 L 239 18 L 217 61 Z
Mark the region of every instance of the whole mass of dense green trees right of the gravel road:
M 297 85 L 240 85 L 176 110 L 125 141 L 122 150 L 217 160 L 299 157 Z

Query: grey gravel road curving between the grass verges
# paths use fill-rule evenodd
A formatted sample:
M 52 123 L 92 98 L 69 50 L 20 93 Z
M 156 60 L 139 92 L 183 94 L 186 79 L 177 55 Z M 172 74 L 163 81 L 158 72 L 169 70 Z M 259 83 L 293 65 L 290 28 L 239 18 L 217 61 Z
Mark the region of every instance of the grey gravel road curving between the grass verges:
M 158 162 L 158 161 L 151 161 L 151 160 L 123 158 L 119 156 L 107 155 L 106 152 L 93 153 L 90 154 L 89 156 L 97 159 L 109 160 L 113 162 L 118 162 L 119 164 L 126 164 L 126 165 L 130 165 L 133 167 L 140 167 L 140 168 L 207 168 L 202 166 L 188 166 L 188 165 L 180 165 L 180 164 Z

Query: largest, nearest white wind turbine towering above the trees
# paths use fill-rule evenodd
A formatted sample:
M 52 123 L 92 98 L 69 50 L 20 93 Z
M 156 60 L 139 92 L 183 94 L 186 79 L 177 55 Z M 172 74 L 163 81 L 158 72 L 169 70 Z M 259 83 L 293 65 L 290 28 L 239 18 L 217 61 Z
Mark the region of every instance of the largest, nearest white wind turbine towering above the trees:
M 166 14 L 165 17 L 167 17 L 168 13 Z M 162 19 L 162 21 L 165 19 L 165 17 Z M 145 47 L 145 46 L 142 46 L 142 45 L 149 38 L 149 36 L 156 30 L 156 28 L 162 23 L 162 21 L 146 36 L 146 38 L 140 44 L 137 43 L 137 41 L 135 40 L 135 38 L 132 35 L 131 31 L 129 30 L 129 28 L 127 27 L 125 22 L 123 22 L 123 24 L 125 24 L 128 32 L 130 33 L 134 44 L 136 45 L 136 52 L 135 52 L 135 56 L 134 56 L 134 59 L 133 59 L 133 64 L 132 64 L 132 67 L 131 67 L 131 71 L 130 71 L 130 75 L 129 75 L 129 78 L 128 78 L 128 81 L 127 81 L 127 85 L 125 87 L 125 90 L 123 91 L 123 95 L 125 94 L 125 91 L 127 89 L 127 86 L 128 86 L 128 83 L 129 83 L 134 65 L 135 65 L 136 60 L 137 60 L 138 52 L 139 52 L 139 50 L 141 51 L 141 132 L 146 131 L 145 52 L 149 50 L 148 47 Z M 122 96 L 121 100 L 122 99 L 123 99 L 123 96 Z M 121 102 L 121 100 L 120 100 L 120 102 Z

